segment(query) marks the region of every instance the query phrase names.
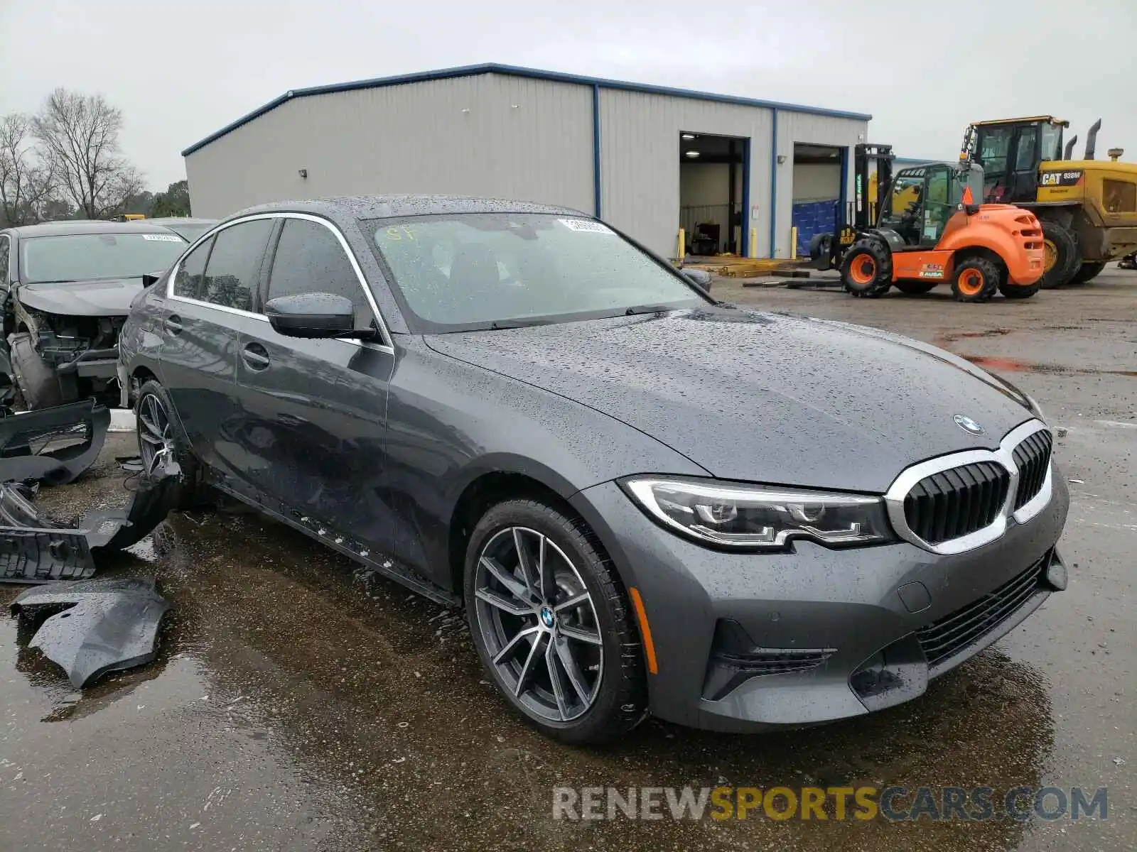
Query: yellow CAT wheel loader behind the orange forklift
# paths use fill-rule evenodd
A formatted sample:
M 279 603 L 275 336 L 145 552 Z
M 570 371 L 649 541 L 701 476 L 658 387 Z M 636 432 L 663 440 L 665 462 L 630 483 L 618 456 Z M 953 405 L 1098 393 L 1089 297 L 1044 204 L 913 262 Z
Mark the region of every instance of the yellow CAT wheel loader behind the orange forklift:
M 1080 160 L 1070 159 L 1077 135 L 1054 116 L 976 122 L 963 137 L 961 160 L 984 167 L 984 201 L 1030 210 L 1043 225 L 1044 289 L 1085 284 L 1111 260 L 1137 251 L 1137 164 L 1095 159 L 1098 119 Z

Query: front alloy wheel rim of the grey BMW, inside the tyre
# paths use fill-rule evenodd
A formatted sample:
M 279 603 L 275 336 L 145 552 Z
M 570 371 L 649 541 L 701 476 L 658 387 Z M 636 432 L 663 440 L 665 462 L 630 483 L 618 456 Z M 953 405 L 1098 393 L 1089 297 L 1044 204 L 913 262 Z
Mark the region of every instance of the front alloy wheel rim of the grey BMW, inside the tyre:
M 476 629 L 514 699 L 551 721 L 584 715 L 600 688 L 604 644 L 568 556 L 536 529 L 500 529 L 479 554 L 474 595 Z

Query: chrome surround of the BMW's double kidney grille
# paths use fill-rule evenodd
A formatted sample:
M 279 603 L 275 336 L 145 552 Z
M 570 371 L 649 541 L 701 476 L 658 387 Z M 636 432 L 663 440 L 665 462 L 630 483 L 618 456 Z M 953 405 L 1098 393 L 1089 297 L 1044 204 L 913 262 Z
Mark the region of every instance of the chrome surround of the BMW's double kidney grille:
M 1051 502 L 1054 463 L 1049 453 L 1047 453 L 1045 462 L 1046 470 L 1043 476 L 1041 485 L 1038 487 L 1037 493 L 1015 509 L 1015 503 L 1019 499 L 1020 473 L 1019 467 L 1015 463 L 1014 451 L 1019 444 L 1039 432 L 1046 433 L 1043 437 L 1045 437 L 1045 443 L 1049 446 L 1052 437 L 1046 424 L 1041 420 L 1032 419 L 1006 433 L 1003 440 L 999 441 L 997 450 L 965 450 L 963 452 L 955 452 L 948 456 L 940 456 L 936 459 L 929 459 L 928 461 L 921 461 L 919 465 L 913 465 L 912 467 L 903 470 L 901 475 L 893 481 L 888 492 L 885 494 L 885 506 L 888 509 L 888 519 L 893 523 L 893 528 L 896 531 L 896 534 L 905 541 L 911 542 L 919 548 L 923 548 L 924 550 L 929 550 L 932 553 L 951 556 L 954 553 L 963 553 L 969 550 L 974 550 L 976 548 L 989 544 L 996 538 L 999 538 L 1006 532 L 1007 521 L 1011 518 L 1014 518 L 1018 524 L 1026 524 Z M 1020 453 L 1020 456 L 1021 454 L 1022 453 Z M 908 526 L 907 517 L 905 516 L 904 500 L 907 498 L 908 492 L 911 492 L 912 488 L 922 479 L 933 476 L 935 474 L 941 474 L 946 470 L 953 470 L 966 465 L 978 465 L 981 462 L 995 462 L 996 465 L 1005 468 L 1011 476 L 1010 486 L 1006 490 L 1006 499 L 1004 500 L 1003 506 L 999 508 L 999 511 L 995 516 L 994 520 L 991 520 L 991 523 L 987 526 L 957 538 L 948 538 L 947 541 L 931 543 L 920 537 Z

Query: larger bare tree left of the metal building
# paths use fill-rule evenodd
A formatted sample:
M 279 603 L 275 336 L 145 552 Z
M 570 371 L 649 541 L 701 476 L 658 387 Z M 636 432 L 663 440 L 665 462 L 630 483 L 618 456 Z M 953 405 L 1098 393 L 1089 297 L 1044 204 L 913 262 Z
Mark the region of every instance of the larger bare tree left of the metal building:
M 33 119 L 44 160 L 80 214 L 99 219 L 122 212 L 142 190 L 142 176 L 118 148 L 123 114 L 101 94 L 56 89 Z

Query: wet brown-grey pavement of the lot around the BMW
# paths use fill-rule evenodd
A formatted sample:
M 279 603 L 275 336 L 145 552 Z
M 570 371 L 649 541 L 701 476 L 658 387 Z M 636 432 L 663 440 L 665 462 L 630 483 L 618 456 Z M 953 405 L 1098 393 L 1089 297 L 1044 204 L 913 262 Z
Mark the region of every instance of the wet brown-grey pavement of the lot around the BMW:
M 506 711 L 459 613 L 256 515 L 180 513 L 100 574 L 157 576 L 173 610 L 155 663 L 80 695 L 0 616 L 0 850 L 1137 846 L 1137 273 L 986 306 L 715 294 L 910 334 L 1030 393 L 1070 481 L 1070 588 L 865 719 L 763 736 L 649 720 L 583 750 Z M 124 502 L 130 441 L 111 435 L 92 475 L 39 502 Z M 1107 787 L 1109 819 L 553 819 L 554 787 L 604 785 Z

